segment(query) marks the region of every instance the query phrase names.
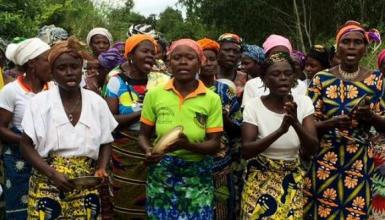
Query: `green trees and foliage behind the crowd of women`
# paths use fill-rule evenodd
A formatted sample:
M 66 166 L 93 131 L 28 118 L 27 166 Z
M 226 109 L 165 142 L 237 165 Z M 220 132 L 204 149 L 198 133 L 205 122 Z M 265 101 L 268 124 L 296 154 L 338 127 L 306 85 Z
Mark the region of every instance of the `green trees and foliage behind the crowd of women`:
M 385 1 L 179 0 L 178 4 L 186 9 L 185 17 L 174 8 L 144 17 L 132 11 L 133 0 L 118 8 L 92 0 L 0 0 L 0 37 L 32 37 L 43 25 L 55 24 L 82 39 L 91 28 L 104 26 L 115 39 L 124 40 L 131 24 L 147 23 L 168 40 L 216 39 L 221 33 L 235 32 L 261 45 L 276 33 L 305 51 L 312 44 L 333 44 L 337 27 L 349 19 L 385 32 Z

